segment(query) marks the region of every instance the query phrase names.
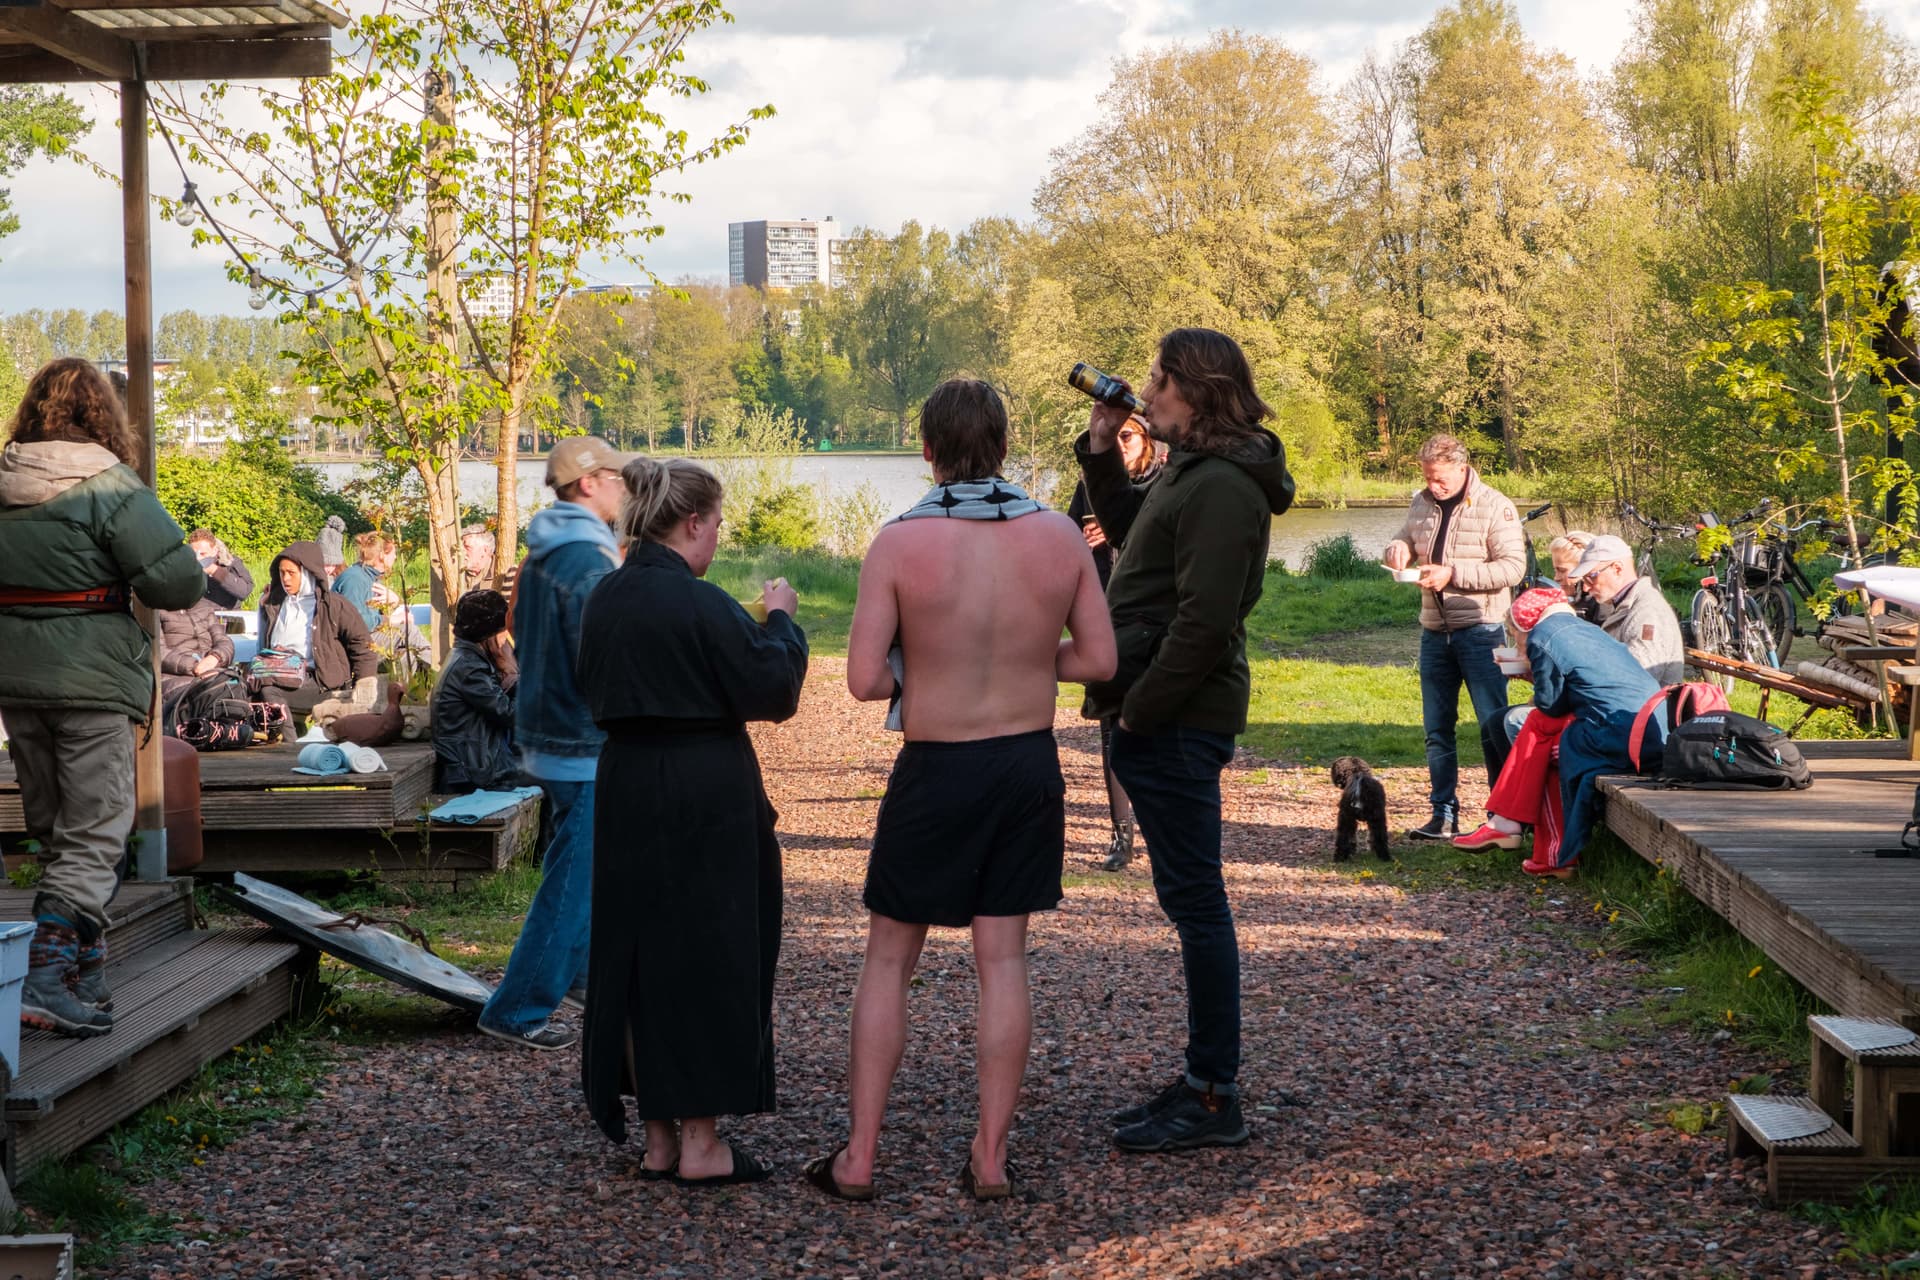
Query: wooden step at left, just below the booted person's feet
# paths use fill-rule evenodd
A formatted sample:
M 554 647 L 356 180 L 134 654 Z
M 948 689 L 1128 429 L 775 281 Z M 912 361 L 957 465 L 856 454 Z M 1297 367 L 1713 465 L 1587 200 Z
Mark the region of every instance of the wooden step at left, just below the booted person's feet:
M 8 1176 L 79 1150 L 284 1017 L 311 952 L 269 929 L 182 933 L 108 965 L 113 1031 L 21 1036 L 6 1098 Z

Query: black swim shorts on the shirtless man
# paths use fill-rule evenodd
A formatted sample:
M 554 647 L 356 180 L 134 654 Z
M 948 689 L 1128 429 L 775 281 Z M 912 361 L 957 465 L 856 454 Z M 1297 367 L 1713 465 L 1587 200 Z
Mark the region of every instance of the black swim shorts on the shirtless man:
M 1060 906 L 1066 791 L 1052 729 L 908 743 L 879 802 L 868 910 L 960 927 Z

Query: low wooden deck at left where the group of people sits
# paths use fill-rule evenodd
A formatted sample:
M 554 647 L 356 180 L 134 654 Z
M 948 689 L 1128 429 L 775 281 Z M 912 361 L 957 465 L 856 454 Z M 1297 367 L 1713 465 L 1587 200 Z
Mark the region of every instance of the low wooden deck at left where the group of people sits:
M 538 800 L 482 823 L 426 823 L 438 804 L 432 743 L 382 747 L 384 773 L 294 773 L 298 756 L 298 745 L 202 752 L 196 875 L 380 871 L 459 887 L 538 841 Z M 17 831 L 19 783 L 0 754 L 0 833 Z

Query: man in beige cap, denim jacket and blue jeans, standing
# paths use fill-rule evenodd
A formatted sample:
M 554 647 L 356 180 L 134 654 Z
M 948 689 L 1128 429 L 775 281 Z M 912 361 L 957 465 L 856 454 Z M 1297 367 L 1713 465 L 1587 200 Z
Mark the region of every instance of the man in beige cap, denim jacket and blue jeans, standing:
M 553 447 L 547 484 L 557 501 L 526 526 L 526 568 L 515 597 L 520 687 L 513 733 L 520 768 L 543 793 L 553 841 L 507 975 L 480 1011 L 480 1031 L 536 1050 L 563 1050 L 580 1038 L 549 1021 L 568 994 L 586 996 L 593 773 L 605 739 L 580 693 L 574 658 L 588 595 L 620 558 L 611 524 L 626 499 L 620 468 L 628 459 L 595 436 Z

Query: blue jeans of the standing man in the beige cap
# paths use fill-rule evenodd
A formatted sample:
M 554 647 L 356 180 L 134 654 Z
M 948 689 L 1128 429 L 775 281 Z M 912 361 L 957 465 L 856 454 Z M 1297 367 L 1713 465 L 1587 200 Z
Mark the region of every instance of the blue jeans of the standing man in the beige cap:
M 530 1034 L 566 990 L 588 975 L 588 921 L 593 889 L 593 783 L 540 779 L 543 804 L 553 810 L 553 842 L 540 871 L 540 889 L 507 958 L 507 977 L 480 1011 L 493 1031 Z

